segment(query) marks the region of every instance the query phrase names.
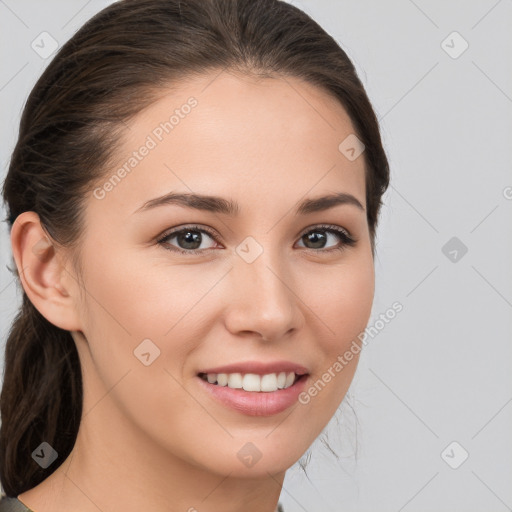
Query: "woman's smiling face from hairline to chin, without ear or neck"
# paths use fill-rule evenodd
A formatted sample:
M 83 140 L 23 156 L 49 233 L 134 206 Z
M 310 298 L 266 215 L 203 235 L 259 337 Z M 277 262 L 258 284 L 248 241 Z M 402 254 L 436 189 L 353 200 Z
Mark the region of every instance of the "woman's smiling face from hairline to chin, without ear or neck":
M 80 252 L 85 339 L 73 335 L 84 412 L 109 411 L 98 435 L 136 432 L 139 447 L 223 475 L 274 474 L 303 455 L 345 396 L 373 300 L 353 134 L 312 85 L 218 71 L 131 120 L 87 199 Z M 181 199 L 156 201 L 171 193 Z M 339 194 L 351 199 L 315 203 Z M 282 387 L 299 367 L 288 390 L 231 387 Z

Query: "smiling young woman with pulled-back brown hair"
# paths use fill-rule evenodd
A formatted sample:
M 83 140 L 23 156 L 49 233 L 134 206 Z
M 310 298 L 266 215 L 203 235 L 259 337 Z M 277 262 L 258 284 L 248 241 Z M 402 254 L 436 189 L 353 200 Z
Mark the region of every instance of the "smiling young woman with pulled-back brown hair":
M 4 183 L 3 506 L 280 509 L 357 366 L 388 182 L 352 63 L 296 7 L 94 16 L 32 90 Z

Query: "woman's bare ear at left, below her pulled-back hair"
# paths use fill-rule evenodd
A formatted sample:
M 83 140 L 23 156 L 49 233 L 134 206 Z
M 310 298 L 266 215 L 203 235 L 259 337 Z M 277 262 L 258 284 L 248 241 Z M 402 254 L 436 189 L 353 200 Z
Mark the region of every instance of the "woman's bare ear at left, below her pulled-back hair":
M 11 246 L 23 289 L 35 308 L 52 324 L 79 331 L 79 284 L 66 268 L 62 248 L 43 229 L 39 215 L 23 212 L 11 228 Z

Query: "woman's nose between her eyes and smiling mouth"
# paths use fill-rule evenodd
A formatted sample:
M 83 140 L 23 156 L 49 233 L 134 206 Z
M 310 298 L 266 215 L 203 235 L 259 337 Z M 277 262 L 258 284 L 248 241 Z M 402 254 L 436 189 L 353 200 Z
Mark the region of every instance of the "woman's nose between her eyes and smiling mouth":
M 233 335 L 256 333 L 265 341 L 274 341 L 300 330 L 302 302 L 282 256 L 265 250 L 252 263 L 237 258 L 227 277 L 230 297 L 225 323 Z

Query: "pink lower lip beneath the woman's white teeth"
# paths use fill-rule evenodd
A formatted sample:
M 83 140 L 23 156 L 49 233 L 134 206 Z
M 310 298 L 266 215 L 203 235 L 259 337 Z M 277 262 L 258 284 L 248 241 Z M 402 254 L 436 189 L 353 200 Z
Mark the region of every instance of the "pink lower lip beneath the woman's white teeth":
M 306 387 L 309 375 L 303 375 L 292 386 L 277 391 L 245 391 L 229 386 L 210 384 L 197 377 L 204 389 L 221 404 L 248 416 L 272 416 L 285 411 L 298 402 L 300 393 Z

